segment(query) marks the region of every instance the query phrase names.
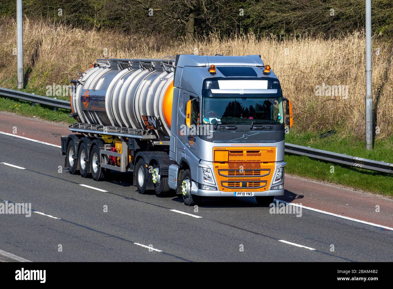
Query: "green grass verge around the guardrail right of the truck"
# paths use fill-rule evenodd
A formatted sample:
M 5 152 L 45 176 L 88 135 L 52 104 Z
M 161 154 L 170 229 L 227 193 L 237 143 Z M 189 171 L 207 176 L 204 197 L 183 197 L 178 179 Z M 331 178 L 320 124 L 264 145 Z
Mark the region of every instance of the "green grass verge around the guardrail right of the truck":
M 353 136 L 343 137 L 339 133 L 321 138 L 316 133 L 297 134 L 295 131 L 290 131 L 286 135 L 285 141 L 291 144 L 393 163 L 393 137 L 376 140 L 372 151 L 364 149 L 364 140 Z M 308 158 L 307 156 L 291 154 L 285 155 L 285 162 L 287 162 L 286 172 L 292 175 L 393 196 L 393 175 L 341 166 Z M 334 172 L 332 172 L 331 166 L 333 166 Z

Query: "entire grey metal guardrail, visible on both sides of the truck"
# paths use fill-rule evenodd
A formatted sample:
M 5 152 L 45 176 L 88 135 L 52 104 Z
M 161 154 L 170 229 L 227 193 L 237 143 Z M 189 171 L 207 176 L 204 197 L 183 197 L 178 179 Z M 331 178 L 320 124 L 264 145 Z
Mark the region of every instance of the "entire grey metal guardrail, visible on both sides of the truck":
M 0 95 L 31 101 L 32 103 L 41 103 L 52 107 L 59 107 L 62 109 L 71 109 L 71 105 L 68 101 L 48 98 L 46 96 L 39 96 L 18 90 L 11 90 L 0 87 Z M 302 145 L 294 145 L 288 143 L 285 144 L 285 152 L 294 155 L 308 156 L 309 158 L 324 160 L 326 162 L 331 162 L 335 164 L 343 164 L 345 166 L 393 174 L 393 164 L 380 162 L 377 160 L 369 160 L 367 158 L 359 158 L 357 156 L 349 156 L 340 153 L 334 153 L 331 151 L 313 149 L 312 147 L 304 147 Z

